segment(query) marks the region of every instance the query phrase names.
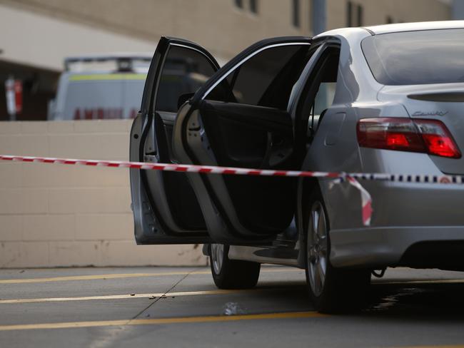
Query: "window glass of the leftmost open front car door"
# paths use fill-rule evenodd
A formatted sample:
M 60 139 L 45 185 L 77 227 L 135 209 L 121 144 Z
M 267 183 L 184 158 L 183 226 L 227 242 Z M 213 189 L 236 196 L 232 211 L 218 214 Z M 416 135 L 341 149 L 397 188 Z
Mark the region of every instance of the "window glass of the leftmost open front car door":
M 179 96 L 195 93 L 216 69 L 203 53 L 171 46 L 166 55 L 156 98 L 156 111 L 177 112 Z

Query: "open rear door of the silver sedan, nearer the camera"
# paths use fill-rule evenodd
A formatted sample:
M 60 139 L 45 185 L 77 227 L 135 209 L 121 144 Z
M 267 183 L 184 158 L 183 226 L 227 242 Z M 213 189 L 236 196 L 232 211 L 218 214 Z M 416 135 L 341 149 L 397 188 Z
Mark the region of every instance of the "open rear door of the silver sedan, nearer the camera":
M 178 111 L 173 151 L 181 163 L 291 170 L 300 155 L 288 103 L 311 39 L 267 39 L 221 68 Z M 293 220 L 296 179 L 191 174 L 215 242 L 271 240 Z

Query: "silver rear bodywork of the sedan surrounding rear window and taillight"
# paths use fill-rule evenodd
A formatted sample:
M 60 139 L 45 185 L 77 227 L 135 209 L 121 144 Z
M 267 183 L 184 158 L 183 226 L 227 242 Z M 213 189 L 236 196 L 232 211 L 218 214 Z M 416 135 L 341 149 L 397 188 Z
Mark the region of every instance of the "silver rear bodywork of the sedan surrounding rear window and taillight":
M 430 26 L 398 24 L 395 28 L 385 26 L 365 33 L 361 32 L 363 29 L 337 29 L 316 36 L 316 39 L 323 39 L 326 35 L 341 39 L 341 81 L 349 93 L 336 96 L 338 101 L 345 103 L 346 113 L 339 142 L 334 146 L 324 143 L 325 136 L 321 133 L 334 127 L 328 124 L 331 123 L 330 116 L 326 116 L 318 134 L 321 137 L 316 135 L 303 169 L 347 173 L 463 173 L 460 160 L 438 158 L 425 153 L 359 148 L 355 137 L 355 124 L 360 118 L 431 118 L 443 121 L 455 137 L 459 148 L 463 148 L 464 144 L 460 139 L 463 134 L 462 126 L 460 117 L 456 116 L 462 109 L 462 103 L 408 98 L 410 94 L 462 91 L 462 84 L 383 86 L 373 78 L 360 48 L 360 42 L 371 33 L 438 29 L 442 27 L 441 24 L 443 22 Z M 463 26 L 464 22 L 443 24 L 443 28 Z M 340 105 L 334 105 L 333 108 L 338 106 Z M 343 106 L 340 106 L 339 112 L 342 111 Z M 446 114 L 440 115 L 441 111 Z M 343 155 L 340 156 L 341 154 Z M 383 268 L 404 265 L 401 263 L 404 253 L 420 242 L 464 240 L 464 217 L 458 208 L 464 203 L 463 189 L 460 186 L 381 181 L 361 183 L 373 200 L 370 227 L 364 227 L 360 220 L 358 190 L 346 183 L 331 185 L 330 180 L 319 180 L 331 221 L 330 260 L 335 267 Z M 420 263 L 413 266 L 420 266 Z M 449 266 L 439 265 L 437 262 L 436 267 Z

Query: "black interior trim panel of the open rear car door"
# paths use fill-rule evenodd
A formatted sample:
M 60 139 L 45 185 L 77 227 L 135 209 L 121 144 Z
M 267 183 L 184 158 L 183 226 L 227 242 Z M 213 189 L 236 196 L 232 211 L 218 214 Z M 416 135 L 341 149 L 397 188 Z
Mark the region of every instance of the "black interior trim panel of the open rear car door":
M 201 119 L 218 165 L 291 168 L 291 117 L 286 111 L 234 103 L 203 102 Z M 201 148 L 192 148 L 193 152 Z M 276 165 L 271 154 L 281 155 Z M 291 222 L 292 178 L 224 175 L 223 181 L 241 225 L 256 234 L 281 232 Z M 253 193 L 253 194 L 250 194 Z

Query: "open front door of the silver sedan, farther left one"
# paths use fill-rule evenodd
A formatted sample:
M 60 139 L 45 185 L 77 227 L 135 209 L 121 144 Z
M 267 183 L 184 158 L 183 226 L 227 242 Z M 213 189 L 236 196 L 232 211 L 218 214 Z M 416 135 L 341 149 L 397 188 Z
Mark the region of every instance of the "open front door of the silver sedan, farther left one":
M 177 163 L 171 138 L 178 105 L 218 70 L 216 60 L 190 41 L 163 37 L 146 78 L 141 111 L 131 128 L 130 160 Z M 208 242 L 205 220 L 185 173 L 131 169 L 138 244 Z

